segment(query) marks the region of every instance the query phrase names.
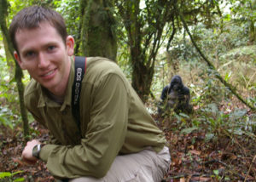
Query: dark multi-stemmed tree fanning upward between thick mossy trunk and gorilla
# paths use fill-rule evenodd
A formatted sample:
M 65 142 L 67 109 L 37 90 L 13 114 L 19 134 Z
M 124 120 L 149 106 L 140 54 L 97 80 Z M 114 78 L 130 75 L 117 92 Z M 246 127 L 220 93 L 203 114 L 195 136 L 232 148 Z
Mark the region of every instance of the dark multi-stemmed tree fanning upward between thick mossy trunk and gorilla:
M 140 9 L 140 0 L 116 3 L 124 21 L 131 52 L 131 85 L 145 102 L 150 94 L 163 29 L 172 20 L 172 1 L 145 1 L 145 9 Z

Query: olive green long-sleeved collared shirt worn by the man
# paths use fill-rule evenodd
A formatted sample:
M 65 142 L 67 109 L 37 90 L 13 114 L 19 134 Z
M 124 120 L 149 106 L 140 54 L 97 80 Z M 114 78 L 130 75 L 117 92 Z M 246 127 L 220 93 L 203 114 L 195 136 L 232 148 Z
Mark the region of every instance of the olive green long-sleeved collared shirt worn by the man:
M 87 58 L 79 127 L 71 109 L 73 79 L 72 60 L 62 104 L 49 99 L 45 88 L 34 80 L 25 91 L 28 111 L 53 135 L 54 142 L 44 145 L 40 158 L 55 178 L 101 178 L 117 155 L 142 151 L 148 146 L 159 152 L 166 144 L 163 132 L 113 61 Z

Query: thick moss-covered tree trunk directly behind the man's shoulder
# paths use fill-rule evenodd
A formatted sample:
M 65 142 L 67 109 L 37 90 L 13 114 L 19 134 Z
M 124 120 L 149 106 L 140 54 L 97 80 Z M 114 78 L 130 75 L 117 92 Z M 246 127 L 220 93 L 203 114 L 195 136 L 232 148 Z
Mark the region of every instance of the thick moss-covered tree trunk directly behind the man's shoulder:
M 112 0 L 80 0 L 81 52 L 116 60 L 117 40 Z

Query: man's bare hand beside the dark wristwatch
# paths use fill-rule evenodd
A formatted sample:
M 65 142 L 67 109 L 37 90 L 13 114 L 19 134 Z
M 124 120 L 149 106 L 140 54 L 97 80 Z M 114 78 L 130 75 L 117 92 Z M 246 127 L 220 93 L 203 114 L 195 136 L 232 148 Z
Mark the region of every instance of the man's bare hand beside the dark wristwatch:
M 32 156 L 32 150 L 35 145 L 41 144 L 37 139 L 33 139 L 26 143 L 26 147 L 22 151 L 22 160 L 29 164 L 34 164 L 38 161 L 38 159 Z

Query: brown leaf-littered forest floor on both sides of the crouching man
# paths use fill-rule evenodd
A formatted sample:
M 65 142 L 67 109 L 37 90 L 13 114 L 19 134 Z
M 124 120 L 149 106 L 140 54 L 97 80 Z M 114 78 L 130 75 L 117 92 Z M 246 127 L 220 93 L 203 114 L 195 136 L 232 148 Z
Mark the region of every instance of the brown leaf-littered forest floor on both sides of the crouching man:
M 180 123 L 153 117 L 165 132 L 171 151 L 172 163 L 166 182 L 256 181 L 256 134 L 252 138 L 218 136 L 217 141 L 206 143 L 203 129 L 181 134 L 179 129 L 173 129 Z M 36 122 L 32 122 L 31 128 L 32 138 L 48 139 L 48 131 Z M 11 130 L 0 125 L 0 131 L 0 172 L 14 174 L 5 179 L 0 176 L 0 181 L 19 181 L 17 178 L 32 182 L 54 181 L 44 162 L 34 166 L 22 162 L 20 155 L 25 144 L 21 126 Z

